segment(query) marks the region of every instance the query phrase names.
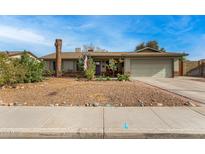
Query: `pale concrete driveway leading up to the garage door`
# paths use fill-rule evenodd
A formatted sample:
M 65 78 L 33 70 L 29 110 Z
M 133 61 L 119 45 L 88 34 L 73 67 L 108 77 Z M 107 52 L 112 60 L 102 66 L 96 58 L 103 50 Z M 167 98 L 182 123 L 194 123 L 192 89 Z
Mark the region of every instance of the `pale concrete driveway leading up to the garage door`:
M 135 80 L 160 87 L 170 92 L 188 97 L 205 105 L 205 78 L 175 77 L 175 78 L 134 78 Z

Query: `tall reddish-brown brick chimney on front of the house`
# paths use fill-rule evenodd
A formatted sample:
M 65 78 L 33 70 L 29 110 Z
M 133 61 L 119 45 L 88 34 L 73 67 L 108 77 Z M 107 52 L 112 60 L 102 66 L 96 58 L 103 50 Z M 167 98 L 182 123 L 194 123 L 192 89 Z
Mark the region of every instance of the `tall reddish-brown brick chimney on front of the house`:
M 56 47 L 56 77 L 60 77 L 62 76 L 62 71 L 61 71 L 62 40 L 61 39 L 56 39 L 55 47 Z

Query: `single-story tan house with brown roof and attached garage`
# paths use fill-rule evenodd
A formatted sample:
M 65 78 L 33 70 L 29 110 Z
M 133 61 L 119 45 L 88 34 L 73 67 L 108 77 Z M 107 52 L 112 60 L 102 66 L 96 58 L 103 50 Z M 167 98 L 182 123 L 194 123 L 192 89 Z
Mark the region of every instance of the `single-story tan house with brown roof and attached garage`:
M 61 52 L 61 68 L 65 73 L 78 72 L 78 61 L 85 54 L 93 58 L 96 64 L 96 75 L 109 73 L 109 59 L 117 63 L 116 73 L 129 73 L 131 77 L 174 77 L 181 75 L 180 60 L 185 53 L 161 52 L 146 47 L 136 52 Z M 56 53 L 41 57 L 46 62 L 48 70 L 56 69 Z

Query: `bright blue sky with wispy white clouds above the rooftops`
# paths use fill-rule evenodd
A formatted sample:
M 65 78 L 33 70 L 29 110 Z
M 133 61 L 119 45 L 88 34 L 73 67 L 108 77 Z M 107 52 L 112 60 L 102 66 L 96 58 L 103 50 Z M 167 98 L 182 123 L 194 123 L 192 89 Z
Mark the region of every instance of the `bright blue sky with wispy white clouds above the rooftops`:
M 157 40 L 167 51 L 205 58 L 205 16 L 0 16 L 0 50 L 29 50 L 38 56 L 94 44 L 109 51 L 133 51 Z

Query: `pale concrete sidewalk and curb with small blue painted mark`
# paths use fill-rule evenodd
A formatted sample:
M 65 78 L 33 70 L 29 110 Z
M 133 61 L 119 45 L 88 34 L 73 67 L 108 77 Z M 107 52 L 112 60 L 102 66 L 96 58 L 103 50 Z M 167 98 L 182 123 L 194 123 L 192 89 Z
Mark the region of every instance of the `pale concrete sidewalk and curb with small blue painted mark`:
M 205 138 L 205 107 L 0 107 L 0 138 Z

